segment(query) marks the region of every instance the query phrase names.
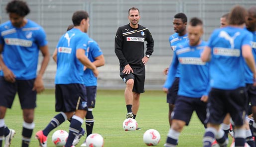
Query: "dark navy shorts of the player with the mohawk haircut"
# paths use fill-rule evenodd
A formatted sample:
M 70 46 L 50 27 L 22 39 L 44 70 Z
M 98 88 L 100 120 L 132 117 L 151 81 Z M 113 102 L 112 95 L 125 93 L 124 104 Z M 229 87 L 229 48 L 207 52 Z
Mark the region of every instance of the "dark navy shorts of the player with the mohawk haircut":
M 182 120 L 189 124 L 194 110 L 198 118 L 204 124 L 206 119 L 207 103 L 200 100 L 201 98 L 189 98 L 184 96 L 177 96 L 175 107 L 172 112 L 172 119 Z

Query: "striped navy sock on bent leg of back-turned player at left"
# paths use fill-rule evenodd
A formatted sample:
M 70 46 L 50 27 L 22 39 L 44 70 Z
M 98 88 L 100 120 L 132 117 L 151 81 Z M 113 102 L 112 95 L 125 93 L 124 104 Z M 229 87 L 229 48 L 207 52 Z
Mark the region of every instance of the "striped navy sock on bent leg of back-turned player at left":
M 48 136 L 48 134 L 62 124 L 65 120 L 67 120 L 67 116 L 65 113 L 60 112 L 56 116 L 54 116 L 48 126 L 43 130 L 43 135 Z

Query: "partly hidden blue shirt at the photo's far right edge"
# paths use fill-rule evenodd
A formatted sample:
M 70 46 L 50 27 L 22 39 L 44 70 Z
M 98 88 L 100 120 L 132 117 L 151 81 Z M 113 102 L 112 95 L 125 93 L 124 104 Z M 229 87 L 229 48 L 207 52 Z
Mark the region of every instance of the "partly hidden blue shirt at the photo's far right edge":
M 253 34 L 252 52 L 254 55 L 254 59 L 256 60 L 256 31 L 251 33 Z M 253 84 L 253 83 L 254 83 L 253 72 L 251 71 L 249 66 L 246 64 L 246 84 Z

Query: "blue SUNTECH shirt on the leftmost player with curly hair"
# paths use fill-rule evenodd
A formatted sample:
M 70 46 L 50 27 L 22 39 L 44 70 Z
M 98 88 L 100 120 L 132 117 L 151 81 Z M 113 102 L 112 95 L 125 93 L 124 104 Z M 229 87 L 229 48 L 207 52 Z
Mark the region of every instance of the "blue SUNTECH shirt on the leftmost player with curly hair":
M 0 33 L 3 61 L 16 76 L 15 79 L 36 78 L 39 47 L 47 45 L 43 28 L 29 19 L 21 28 L 7 21 L 0 25 Z M 3 76 L 2 70 L 0 76 Z

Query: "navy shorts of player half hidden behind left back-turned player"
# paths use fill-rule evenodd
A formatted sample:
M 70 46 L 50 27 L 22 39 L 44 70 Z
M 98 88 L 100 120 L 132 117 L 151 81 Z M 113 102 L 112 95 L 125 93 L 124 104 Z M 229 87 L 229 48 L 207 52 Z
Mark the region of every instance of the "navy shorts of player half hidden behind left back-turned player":
M 86 88 L 88 107 L 94 108 L 95 102 L 96 102 L 97 86 L 86 86 L 85 88 Z

